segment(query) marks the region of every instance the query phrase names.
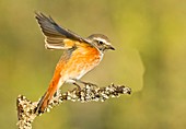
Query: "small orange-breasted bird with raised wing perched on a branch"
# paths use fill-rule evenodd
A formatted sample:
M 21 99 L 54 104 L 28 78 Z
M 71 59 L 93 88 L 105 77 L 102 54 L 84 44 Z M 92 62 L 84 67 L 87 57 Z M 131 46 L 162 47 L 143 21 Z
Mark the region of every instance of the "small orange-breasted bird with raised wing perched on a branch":
M 98 66 L 105 51 L 115 50 L 111 40 L 103 34 L 92 34 L 86 38 L 58 25 L 51 16 L 35 12 L 35 19 L 45 37 L 46 49 L 63 50 L 49 86 L 39 99 L 36 113 L 44 113 L 57 91 L 65 84 L 79 85 L 80 79 Z

